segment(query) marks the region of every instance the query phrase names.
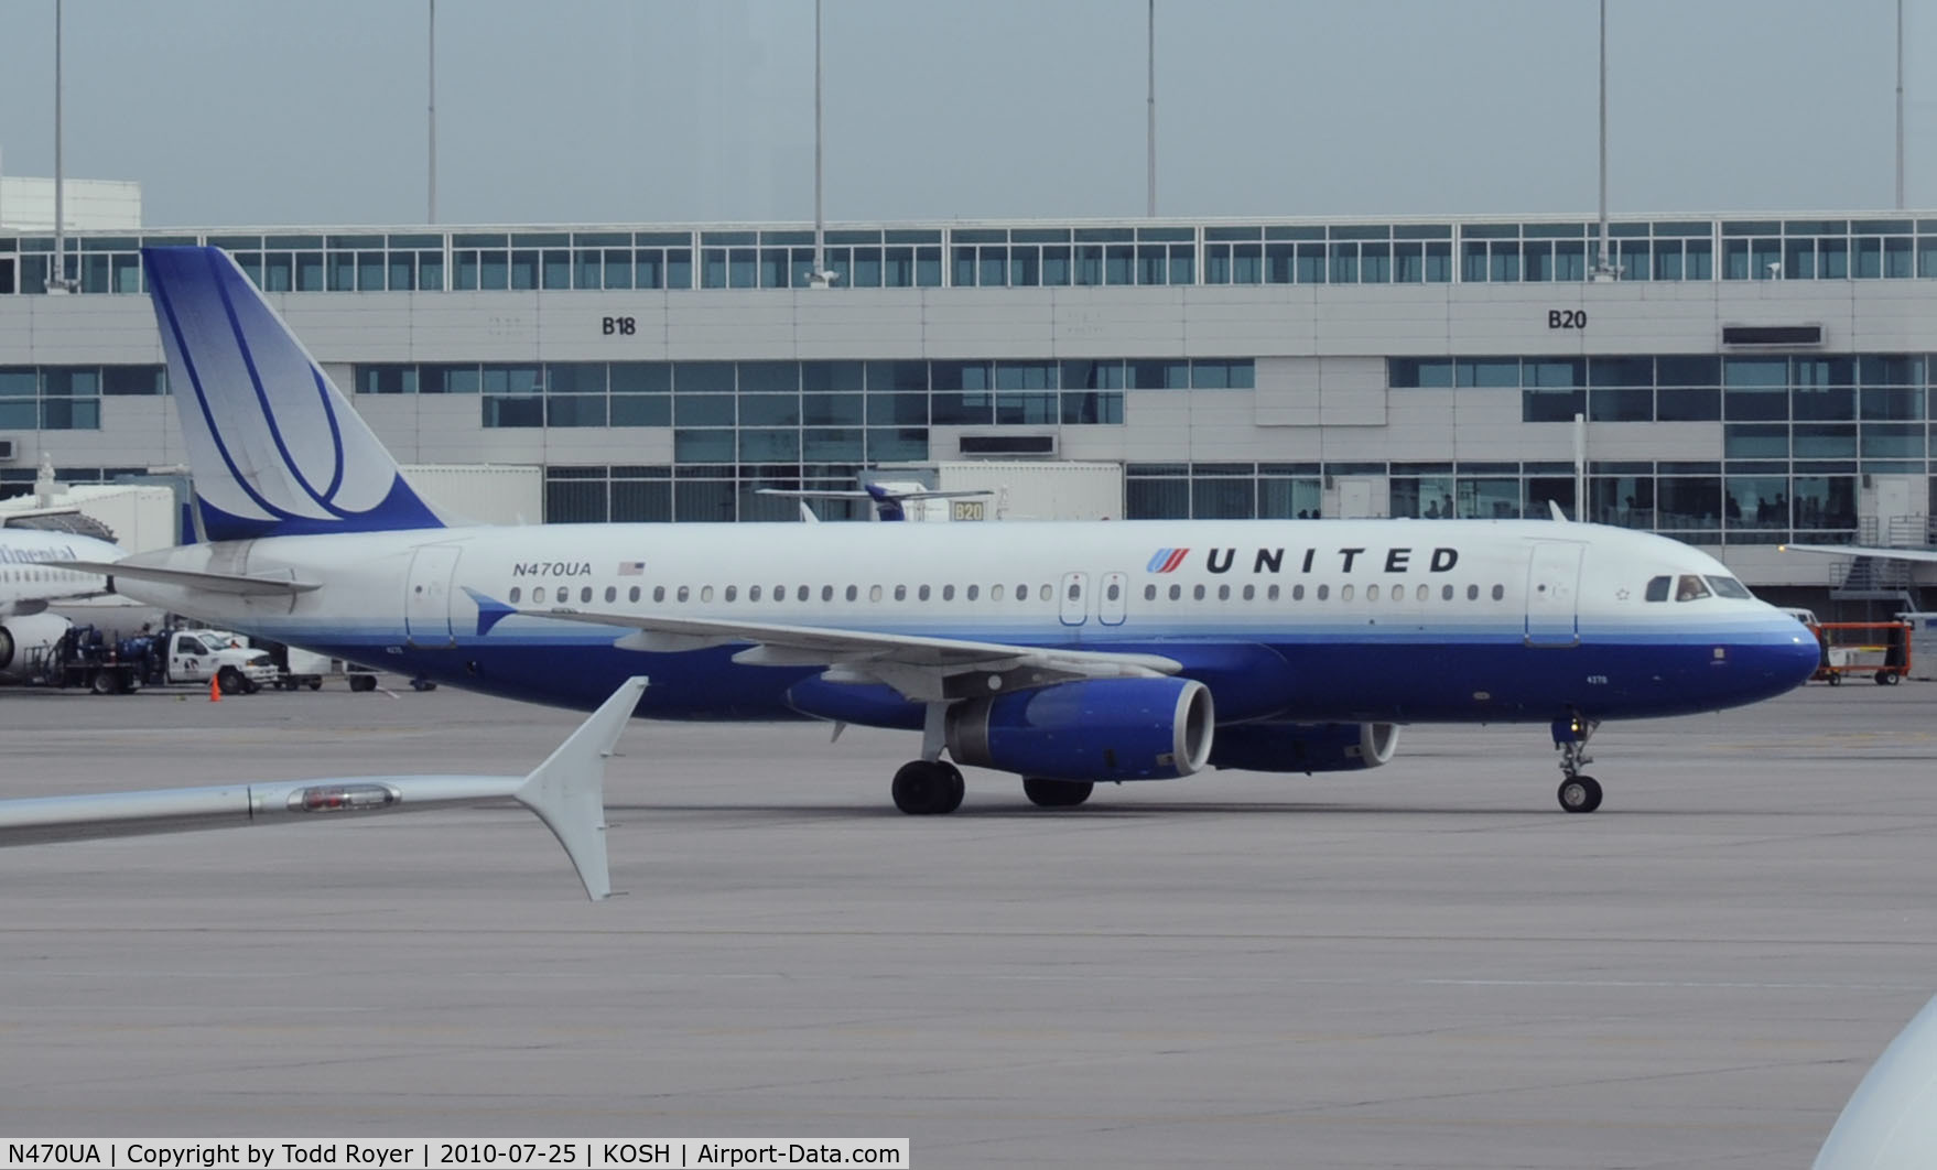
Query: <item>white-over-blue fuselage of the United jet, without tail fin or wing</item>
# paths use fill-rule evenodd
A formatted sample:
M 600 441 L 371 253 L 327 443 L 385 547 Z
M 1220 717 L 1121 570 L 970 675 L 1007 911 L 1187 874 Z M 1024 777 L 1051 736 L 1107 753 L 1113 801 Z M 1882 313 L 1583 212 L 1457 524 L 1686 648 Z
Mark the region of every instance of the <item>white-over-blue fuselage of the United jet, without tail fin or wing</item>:
M 1788 690 L 1815 653 L 1747 595 L 1648 600 L 1658 577 L 1734 583 L 1695 548 L 1550 521 L 420 529 L 139 564 L 320 583 L 267 597 L 122 585 L 215 624 L 573 707 L 651 674 L 641 711 L 682 719 L 794 717 L 788 690 L 815 670 L 618 649 L 620 631 L 529 610 L 1149 651 L 1203 678 L 1220 723 L 1706 711 Z M 480 622 L 492 604 L 523 612 Z

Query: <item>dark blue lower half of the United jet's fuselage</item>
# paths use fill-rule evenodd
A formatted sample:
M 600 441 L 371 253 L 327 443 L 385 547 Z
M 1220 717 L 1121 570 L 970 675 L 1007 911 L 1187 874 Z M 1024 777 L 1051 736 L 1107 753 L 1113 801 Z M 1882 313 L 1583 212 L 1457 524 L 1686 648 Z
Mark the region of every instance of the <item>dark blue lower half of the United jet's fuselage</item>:
M 612 645 L 626 633 L 622 628 L 535 618 L 507 620 L 484 637 L 459 635 L 455 645 L 434 649 L 411 647 L 399 628 L 382 624 L 345 630 L 283 620 L 263 631 L 376 666 L 579 707 L 597 705 L 616 686 L 610 680 L 645 672 L 655 686 L 641 713 L 674 719 L 788 719 L 794 711 L 784 692 L 819 674 L 815 666 L 732 662 L 746 643 L 684 653 L 622 651 Z M 922 631 L 1011 645 L 1069 645 L 1036 628 Z M 1794 639 L 1788 628 L 1767 624 L 1732 630 L 1726 641 L 1716 630 L 1650 633 L 1621 628 L 1614 635 L 1583 635 L 1575 647 L 1550 649 L 1528 647 L 1519 628 L 1495 624 L 1459 635 L 1433 628 L 1389 628 L 1379 637 L 1368 637 L 1364 628 L 1350 635 L 1276 628 L 1174 641 L 1125 633 L 1083 647 L 1174 657 L 1185 676 L 1213 686 L 1220 709 L 1240 711 L 1244 719 L 1284 707 L 1309 721 L 1548 721 L 1569 709 L 1594 717 L 1646 717 L 1780 693 L 1796 682 Z M 1259 678 L 1247 666 L 1245 655 L 1257 653 L 1276 655 L 1286 664 L 1282 682 Z M 1259 693 L 1271 686 L 1278 690 Z

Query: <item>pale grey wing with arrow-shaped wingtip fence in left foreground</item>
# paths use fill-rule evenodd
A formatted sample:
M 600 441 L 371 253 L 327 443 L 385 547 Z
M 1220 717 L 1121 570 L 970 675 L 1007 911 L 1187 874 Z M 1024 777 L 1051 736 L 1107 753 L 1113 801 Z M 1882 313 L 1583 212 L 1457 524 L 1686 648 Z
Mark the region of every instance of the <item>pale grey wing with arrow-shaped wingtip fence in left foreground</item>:
M 604 761 L 643 690 L 645 678 L 626 680 L 537 771 L 523 777 L 333 777 L 0 800 L 0 847 L 339 821 L 509 796 L 538 814 L 566 847 L 585 893 L 600 901 L 612 893 L 604 848 Z

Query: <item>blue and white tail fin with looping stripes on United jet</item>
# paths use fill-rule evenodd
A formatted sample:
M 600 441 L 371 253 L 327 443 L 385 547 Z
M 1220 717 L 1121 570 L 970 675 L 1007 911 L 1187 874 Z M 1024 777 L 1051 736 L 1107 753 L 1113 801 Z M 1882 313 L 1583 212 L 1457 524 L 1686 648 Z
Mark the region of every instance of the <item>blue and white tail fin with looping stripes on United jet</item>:
M 143 248 L 209 540 L 444 521 L 221 248 Z

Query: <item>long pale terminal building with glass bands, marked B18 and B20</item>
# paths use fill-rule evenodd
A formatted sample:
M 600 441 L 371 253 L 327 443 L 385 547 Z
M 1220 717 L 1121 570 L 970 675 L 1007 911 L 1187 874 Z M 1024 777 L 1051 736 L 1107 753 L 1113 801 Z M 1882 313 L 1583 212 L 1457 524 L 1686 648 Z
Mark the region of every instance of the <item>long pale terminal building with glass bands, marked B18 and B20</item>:
M 403 463 L 548 521 L 788 519 L 881 465 L 1120 465 L 1125 517 L 1584 513 L 1825 589 L 1923 542 L 1937 219 L 0 231 L 0 492 L 180 465 L 143 244 L 227 248 Z M 1577 428 L 1575 416 L 1584 422 Z M 837 509 L 839 511 L 839 509 Z

